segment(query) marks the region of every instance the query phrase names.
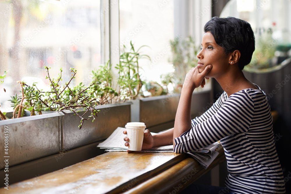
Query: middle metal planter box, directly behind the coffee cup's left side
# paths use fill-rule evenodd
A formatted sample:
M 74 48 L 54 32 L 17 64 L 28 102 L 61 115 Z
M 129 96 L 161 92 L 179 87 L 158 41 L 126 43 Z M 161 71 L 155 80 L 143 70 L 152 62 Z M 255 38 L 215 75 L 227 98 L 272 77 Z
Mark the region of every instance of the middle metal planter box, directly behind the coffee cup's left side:
M 100 110 L 94 122 L 84 121 L 79 129 L 81 118 L 74 115 L 70 110 L 63 111 L 62 118 L 62 151 L 68 151 L 75 147 L 87 145 L 108 138 L 117 127 L 125 127 L 130 122 L 130 105 L 132 103 L 106 104 L 96 106 Z M 79 115 L 85 113 L 83 108 Z M 84 118 L 88 118 L 90 113 L 86 113 Z

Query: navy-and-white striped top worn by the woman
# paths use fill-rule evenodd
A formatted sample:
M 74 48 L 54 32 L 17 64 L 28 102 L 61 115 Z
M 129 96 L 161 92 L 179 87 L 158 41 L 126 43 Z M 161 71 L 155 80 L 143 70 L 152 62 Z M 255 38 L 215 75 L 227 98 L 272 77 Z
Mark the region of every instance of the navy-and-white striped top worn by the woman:
M 262 90 L 226 92 L 192 129 L 175 138 L 174 152 L 187 153 L 218 140 L 224 148 L 232 193 L 285 193 L 273 132 L 273 119 Z M 221 192 L 223 193 L 223 192 Z

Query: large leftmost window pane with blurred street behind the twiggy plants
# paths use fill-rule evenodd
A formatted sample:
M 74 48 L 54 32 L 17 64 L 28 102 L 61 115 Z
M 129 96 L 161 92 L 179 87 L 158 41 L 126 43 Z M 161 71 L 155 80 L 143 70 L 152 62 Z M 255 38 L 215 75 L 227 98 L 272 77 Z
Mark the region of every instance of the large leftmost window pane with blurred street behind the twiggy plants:
M 0 13 L 0 75 L 8 71 L 0 86 L 2 112 L 12 110 L 7 100 L 20 90 L 16 81 L 49 88 L 44 66 L 55 78 L 62 68 L 61 83 L 69 81 L 70 67 L 77 69 L 72 86 L 91 82 L 101 61 L 100 0 L 0 1 Z

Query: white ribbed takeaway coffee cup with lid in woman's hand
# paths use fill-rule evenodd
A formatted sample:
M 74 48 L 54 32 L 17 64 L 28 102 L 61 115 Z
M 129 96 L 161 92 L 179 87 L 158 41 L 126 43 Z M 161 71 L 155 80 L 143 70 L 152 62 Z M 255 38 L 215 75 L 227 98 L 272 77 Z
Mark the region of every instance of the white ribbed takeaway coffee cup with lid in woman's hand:
M 128 150 L 141 151 L 143 145 L 143 134 L 145 131 L 145 124 L 143 122 L 129 122 L 125 125 L 127 131 Z

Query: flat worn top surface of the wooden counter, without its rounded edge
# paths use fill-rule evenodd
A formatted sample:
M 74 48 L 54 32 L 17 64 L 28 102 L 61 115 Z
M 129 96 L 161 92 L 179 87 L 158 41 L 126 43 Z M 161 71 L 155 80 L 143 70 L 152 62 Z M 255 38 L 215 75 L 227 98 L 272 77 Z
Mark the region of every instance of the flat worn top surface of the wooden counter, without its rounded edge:
M 122 193 L 186 158 L 173 152 L 108 152 L 0 188 L 2 194 Z

